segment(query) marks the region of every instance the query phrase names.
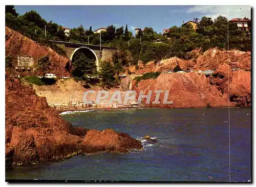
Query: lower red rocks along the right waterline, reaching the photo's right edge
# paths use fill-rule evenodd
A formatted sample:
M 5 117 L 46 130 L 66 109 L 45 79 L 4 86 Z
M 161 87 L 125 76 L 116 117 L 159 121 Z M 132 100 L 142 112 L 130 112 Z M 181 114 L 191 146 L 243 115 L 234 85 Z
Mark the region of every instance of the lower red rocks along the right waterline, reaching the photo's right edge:
M 231 71 L 230 66 L 223 63 L 209 77 L 196 72 L 161 73 L 156 79 L 140 81 L 133 89 L 137 92 L 136 98 L 138 98 L 141 90 L 144 91 L 144 95 L 148 94 L 148 90 L 152 90 L 150 103 L 146 104 L 146 100 L 142 100 L 143 104 L 152 107 L 203 108 L 250 106 L 250 83 L 250 71 Z M 168 90 L 167 100 L 173 101 L 173 104 L 163 104 L 164 93 L 160 94 L 160 104 L 153 104 L 152 102 L 156 98 L 156 90 Z

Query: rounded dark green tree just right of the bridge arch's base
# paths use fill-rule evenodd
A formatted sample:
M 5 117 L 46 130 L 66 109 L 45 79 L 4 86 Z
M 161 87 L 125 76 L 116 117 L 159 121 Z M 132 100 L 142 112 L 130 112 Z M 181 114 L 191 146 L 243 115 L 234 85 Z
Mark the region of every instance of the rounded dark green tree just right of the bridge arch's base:
M 113 65 L 109 61 L 104 61 L 100 65 L 99 75 L 101 77 L 101 86 L 105 88 L 113 88 L 116 86 L 115 71 Z

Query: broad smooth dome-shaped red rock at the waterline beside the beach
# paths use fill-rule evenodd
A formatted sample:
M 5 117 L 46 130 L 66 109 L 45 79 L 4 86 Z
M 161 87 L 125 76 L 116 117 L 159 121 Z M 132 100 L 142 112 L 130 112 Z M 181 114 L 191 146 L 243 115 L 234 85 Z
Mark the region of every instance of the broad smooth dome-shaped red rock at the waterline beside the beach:
M 140 90 L 144 90 L 144 94 L 147 94 L 148 90 L 153 91 L 151 103 L 147 106 L 161 108 L 227 106 L 227 98 L 215 86 L 209 84 L 205 75 L 199 75 L 195 72 L 162 73 L 156 79 L 140 81 L 134 90 L 137 91 L 137 98 Z M 152 104 L 156 96 L 155 90 L 169 90 L 168 101 L 173 101 L 173 104 L 163 104 L 164 94 L 160 94 L 160 104 Z

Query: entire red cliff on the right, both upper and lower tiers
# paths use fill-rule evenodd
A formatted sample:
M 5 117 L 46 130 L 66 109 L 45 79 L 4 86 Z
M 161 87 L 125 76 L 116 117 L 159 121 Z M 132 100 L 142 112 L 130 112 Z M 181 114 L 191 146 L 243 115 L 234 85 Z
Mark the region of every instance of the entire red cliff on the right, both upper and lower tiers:
M 162 60 L 157 65 L 153 62 L 145 66 L 140 64 L 138 70 L 131 68 L 131 71 L 136 74 L 162 72 L 156 79 L 140 81 L 137 86 L 133 81 L 133 89 L 137 92 L 137 98 L 140 90 L 144 90 L 144 94 L 147 94 L 148 90 L 152 90 L 151 103 L 146 104 L 147 106 L 163 108 L 227 107 L 228 101 L 230 106 L 251 105 L 251 72 L 248 71 L 251 68 L 250 52 L 209 49 L 204 53 L 200 53 L 200 50 L 192 51 L 190 55 L 196 57 L 190 60 L 171 58 Z M 173 70 L 177 65 L 182 70 L 210 69 L 215 72 L 208 77 L 197 72 L 163 73 L 163 71 Z M 232 71 L 233 68 L 240 70 Z M 169 90 L 168 100 L 173 101 L 173 104 L 163 104 L 163 94 L 159 98 L 161 104 L 152 104 L 156 97 L 155 90 Z

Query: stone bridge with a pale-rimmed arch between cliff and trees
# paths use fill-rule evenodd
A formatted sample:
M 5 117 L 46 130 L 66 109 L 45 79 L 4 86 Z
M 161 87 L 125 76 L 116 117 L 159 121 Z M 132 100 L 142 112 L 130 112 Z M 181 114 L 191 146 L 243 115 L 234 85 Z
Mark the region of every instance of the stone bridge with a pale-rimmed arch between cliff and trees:
M 50 40 L 51 43 L 56 44 L 65 50 L 67 57 L 72 62 L 72 59 L 77 51 L 82 52 L 89 58 L 94 58 L 99 70 L 100 62 L 111 60 L 114 49 L 108 46 L 90 45 L 84 43 L 74 43 L 74 42 L 63 42 Z

